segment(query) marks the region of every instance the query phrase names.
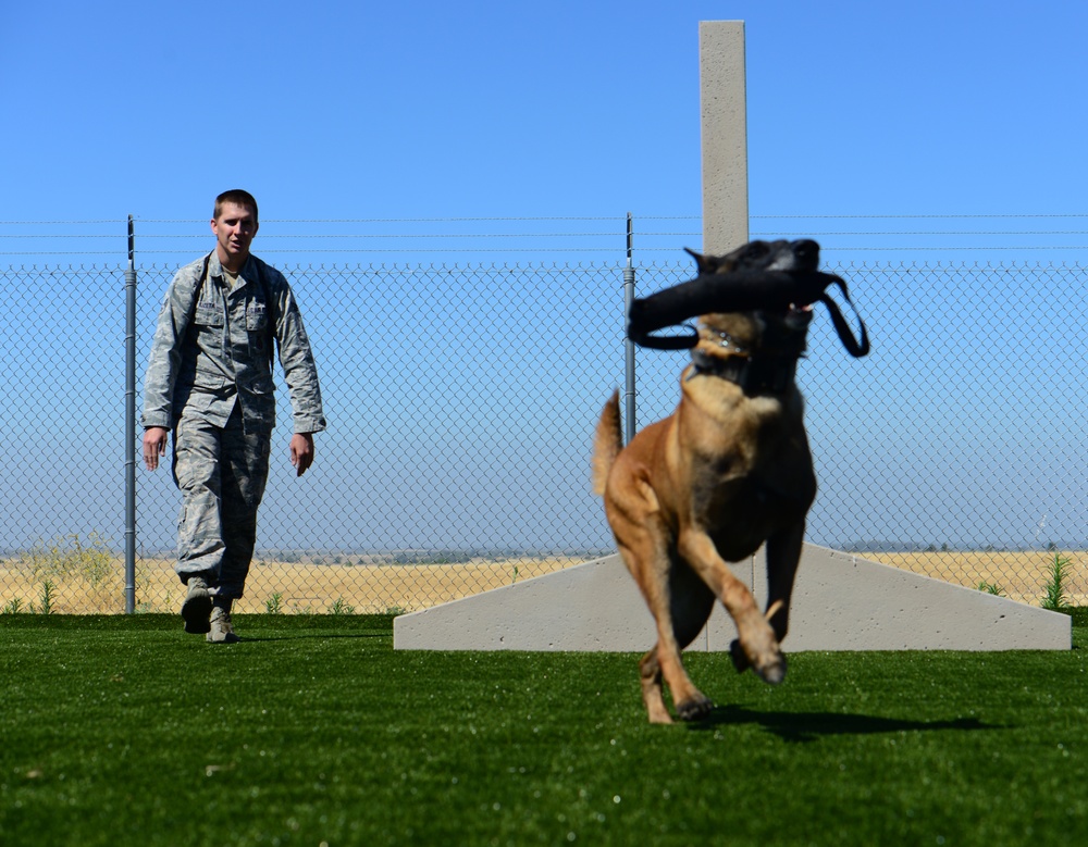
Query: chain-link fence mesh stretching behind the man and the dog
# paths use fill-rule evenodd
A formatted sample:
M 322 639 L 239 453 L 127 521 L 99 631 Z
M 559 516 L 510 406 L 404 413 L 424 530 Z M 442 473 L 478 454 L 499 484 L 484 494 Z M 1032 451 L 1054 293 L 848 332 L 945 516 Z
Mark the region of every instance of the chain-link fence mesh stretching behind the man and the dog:
M 623 385 L 621 264 L 273 261 L 302 309 L 330 426 L 301 478 L 289 403 L 239 611 L 412 610 L 613 551 L 593 428 Z M 138 267 L 137 387 L 174 267 Z M 1086 272 L 840 265 L 873 353 L 817 307 L 799 369 L 820 490 L 808 539 L 1039 603 L 1055 560 L 1088 594 Z M 636 267 L 640 294 L 691 264 Z M 125 609 L 121 267 L 0 269 L 0 607 Z M 638 420 L 669 414 L 684 354 L 639 351 Z M 137 433 L 138 434 L 138 433 Z M 138 453 L 137 453 L 138 454 Z M 176 611 L 180 495 L 137 471 L 136 608 Z

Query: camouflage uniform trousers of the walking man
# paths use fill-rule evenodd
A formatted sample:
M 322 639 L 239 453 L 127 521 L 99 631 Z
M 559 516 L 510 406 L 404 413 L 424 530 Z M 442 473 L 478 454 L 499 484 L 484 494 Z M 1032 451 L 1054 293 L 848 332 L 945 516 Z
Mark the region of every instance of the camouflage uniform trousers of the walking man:
M 182 491 L 177 564 L 182 582 L 202 576 L 221 598 L 246 587 L 257 509 L 269 474 L 270 435 L 247 435 L 238 407 L 225 427 L 182 416 L 174 429 L 174 483 Z

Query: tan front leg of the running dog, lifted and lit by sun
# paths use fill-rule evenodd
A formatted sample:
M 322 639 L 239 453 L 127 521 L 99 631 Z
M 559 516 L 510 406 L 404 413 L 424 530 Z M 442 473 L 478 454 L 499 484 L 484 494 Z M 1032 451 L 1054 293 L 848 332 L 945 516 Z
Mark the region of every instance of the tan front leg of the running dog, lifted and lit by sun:
M 726 561 L 718 555 L 710 537 L 695 527 L 681 532 L 678 539 L 680 555 L 698 573 L 703 582 L 721 600 L 737 625 L 740 652 L 747 665 L 759 677 L 777 685 L 786 677 L 786 657 L 782 656 L 775 631 L 759 613 L 755 598 L 747 586 L 738 580 Z M 739 657 L 734 651 L 733 662 Z M 742 669 L 743 670 L 743 669 Z M 668 680 L 668 676 L 666 676 Z

